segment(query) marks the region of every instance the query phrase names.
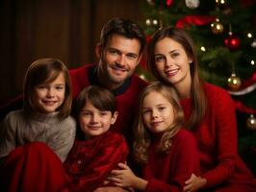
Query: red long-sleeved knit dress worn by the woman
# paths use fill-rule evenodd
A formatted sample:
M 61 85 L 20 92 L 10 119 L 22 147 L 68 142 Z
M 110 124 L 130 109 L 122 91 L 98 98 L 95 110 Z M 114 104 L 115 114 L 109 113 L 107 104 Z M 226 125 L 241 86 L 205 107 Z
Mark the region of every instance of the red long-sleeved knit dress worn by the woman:
M 208 98 L 207 115 L 193 132 L 200 152 L 202 177 L 206 188 L 215 191 L 255 191 L 256 180 L 238 155 L 237 125 L 234 103 L 227 91 L 205 84 Z M 191 114 L 192 101 L 182 100 L 185 116 Z

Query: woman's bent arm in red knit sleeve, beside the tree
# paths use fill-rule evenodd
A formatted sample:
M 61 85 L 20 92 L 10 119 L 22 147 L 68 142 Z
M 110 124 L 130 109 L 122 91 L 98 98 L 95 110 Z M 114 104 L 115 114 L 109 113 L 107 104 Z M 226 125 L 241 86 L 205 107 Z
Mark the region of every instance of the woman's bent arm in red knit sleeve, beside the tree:
M 218 164 L 203 174 L 207 180 L 206 187 L 212 187 L 228 180 L 235 172 L 238 158 L 237 123 L 233 101 L 228 93 L 221 91 L 215 94 L 215 105 L 210 104 L 214 118 L 210 126 L 216 132 L 216 156 Z M 213 118 L 213 117 L 212 117 Z M 214 125 L 213 125 L 214 124 Z

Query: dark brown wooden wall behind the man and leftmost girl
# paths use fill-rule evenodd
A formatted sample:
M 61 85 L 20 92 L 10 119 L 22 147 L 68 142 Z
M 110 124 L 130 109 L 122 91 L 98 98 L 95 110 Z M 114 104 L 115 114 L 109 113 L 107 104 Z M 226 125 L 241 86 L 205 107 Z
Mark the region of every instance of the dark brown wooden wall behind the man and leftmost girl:
M 27 67 L 39 58 L 75 68 L 97 61 L 95 44 L 114 16 L 143 22 L 143 0 L 2 0 L 0 103 L 22 93 Z

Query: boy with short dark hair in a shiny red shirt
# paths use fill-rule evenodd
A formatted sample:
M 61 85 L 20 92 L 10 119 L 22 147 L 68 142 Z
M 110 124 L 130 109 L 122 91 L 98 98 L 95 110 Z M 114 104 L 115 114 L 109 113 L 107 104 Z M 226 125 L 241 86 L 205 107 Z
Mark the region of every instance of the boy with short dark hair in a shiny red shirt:
M 68 191 L 90 192 L 103 186 L 117 163 L 125 162 L 128 155 L 125 138 L 110 131 L 117 118 L 115 105 L 115 95 L 103 87 L 90 85 L 79 94 L 75 105 L 79 129 L 64 162 L 70 179 Z

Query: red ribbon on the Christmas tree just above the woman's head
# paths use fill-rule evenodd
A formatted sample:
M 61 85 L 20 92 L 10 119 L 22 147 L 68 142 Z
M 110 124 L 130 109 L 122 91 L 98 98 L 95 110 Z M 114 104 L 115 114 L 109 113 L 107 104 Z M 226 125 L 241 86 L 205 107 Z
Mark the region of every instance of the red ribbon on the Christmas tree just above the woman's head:
M 184 28 L 190 25 L 206 25 L 216 20 L 215 16 L 208 15 L 188 15 L 176 22 L 177 28 Z

